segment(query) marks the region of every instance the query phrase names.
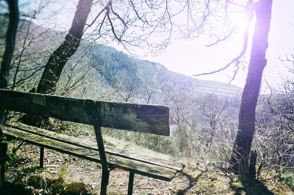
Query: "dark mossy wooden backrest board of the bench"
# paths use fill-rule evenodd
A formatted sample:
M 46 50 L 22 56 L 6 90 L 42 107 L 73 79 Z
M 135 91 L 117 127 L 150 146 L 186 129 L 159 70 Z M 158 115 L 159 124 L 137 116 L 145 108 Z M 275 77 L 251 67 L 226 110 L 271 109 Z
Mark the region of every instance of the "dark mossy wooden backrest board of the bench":
M 170 135 L 169 107 L 115 103 L 0 89 L 0 108 L 101 127 Z

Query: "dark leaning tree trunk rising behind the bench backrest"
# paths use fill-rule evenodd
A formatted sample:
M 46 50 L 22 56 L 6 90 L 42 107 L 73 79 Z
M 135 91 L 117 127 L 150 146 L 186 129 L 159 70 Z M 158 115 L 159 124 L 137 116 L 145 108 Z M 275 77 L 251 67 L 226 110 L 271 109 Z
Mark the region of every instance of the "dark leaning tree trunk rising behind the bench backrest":
M 71 29 L 64 42 L 50 55 L 37 87 L 37 93 L 53 94 L 55 92 L 64 65 L 72 57 L 81 42 L 92 4 L 93 0 L 79 0 Z

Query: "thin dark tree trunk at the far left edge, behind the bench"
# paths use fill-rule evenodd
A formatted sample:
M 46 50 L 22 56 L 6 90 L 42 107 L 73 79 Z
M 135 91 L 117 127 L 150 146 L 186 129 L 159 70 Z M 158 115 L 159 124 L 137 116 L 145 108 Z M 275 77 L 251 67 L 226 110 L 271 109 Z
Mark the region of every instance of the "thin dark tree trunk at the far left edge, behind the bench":
M 19 22 L 18 0 L 7 0 L 9 7 L 9 24 L 6 32 L 6 47 L 2 58 L 0 71 L 0 88 L 7 88 L 11 58 L 15 48 L 15 38 Z M 4 124 L 5 110 L 0 109 L 0 124 Z M 0 137 L 2 131 L 0 130 Z

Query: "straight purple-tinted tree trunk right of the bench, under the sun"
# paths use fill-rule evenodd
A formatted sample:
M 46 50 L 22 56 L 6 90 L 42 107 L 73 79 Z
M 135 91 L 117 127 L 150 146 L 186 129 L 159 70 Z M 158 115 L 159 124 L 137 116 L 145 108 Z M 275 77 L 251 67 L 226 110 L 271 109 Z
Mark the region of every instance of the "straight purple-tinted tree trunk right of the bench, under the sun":
M 231 165 L 235 169 L 248 171 L 248 159 L 255 131 L 255 108 L 259 95 L 263 69 L 267 65 L 266 51 L 270 31 L 272 0 L 259 0 L 254 3 L 256 23 L 246 84 L 239 113 L 238 134 L 232 151 Z

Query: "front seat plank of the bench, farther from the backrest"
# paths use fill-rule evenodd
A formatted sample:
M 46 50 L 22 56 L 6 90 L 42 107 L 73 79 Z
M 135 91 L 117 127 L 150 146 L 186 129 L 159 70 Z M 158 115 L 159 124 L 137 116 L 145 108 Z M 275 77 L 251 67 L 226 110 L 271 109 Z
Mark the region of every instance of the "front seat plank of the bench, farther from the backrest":
M 22 130 L 13 129 L 7 126 L 1 126 L 1 129 L 6 135 L 14 137 L 19 141 L 25 140 L 25 142 L 27 143 L 31 143 L 37 146 L 43 146 L 51 150 L 63 152 L 79 158 L 100 163 L 98 151 L 74 146 L 68 143 L 50 139 L 48 137 L 43 137 Z M 121 156 L 106 154 L 106 157 L 110 166 L 114 166 L 128 172 L 141 174 L 156 179 L 171 181 L 176 174 L 176 171 L 173 169 L 168 169 L 157 165 L 150 165 L 144 162 L 123 158 Z

